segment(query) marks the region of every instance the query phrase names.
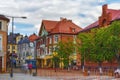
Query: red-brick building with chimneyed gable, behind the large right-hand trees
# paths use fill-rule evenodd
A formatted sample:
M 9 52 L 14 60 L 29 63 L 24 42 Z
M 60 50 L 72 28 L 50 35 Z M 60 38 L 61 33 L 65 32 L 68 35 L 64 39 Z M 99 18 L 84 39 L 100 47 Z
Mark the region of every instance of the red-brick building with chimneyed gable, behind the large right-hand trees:
M 88 25 L 87 27 L 85 27 L 83 30 L 80 31 L 80 33 L 81 32 L 90 32 L 90 30 L 93 28 L 107 27 L 113 21 L 117 21 L 117 20 L 120 20 L 120 10 L 108 9 L 107 4 L 105 4 L 102 6 L 102 14 L 98 18 L 98 20 L 95 21 L 94 23 Z M 98 64 L 94 63 L 94 62 L 85 62 L 85 65 L 86 66 L 98 66 Z M 112 63 L 103 62 L 102 66 L 115 67 L 115 66 L 117 66 L 117 63 L 115 63 L 115 62 L 112 62 Z

